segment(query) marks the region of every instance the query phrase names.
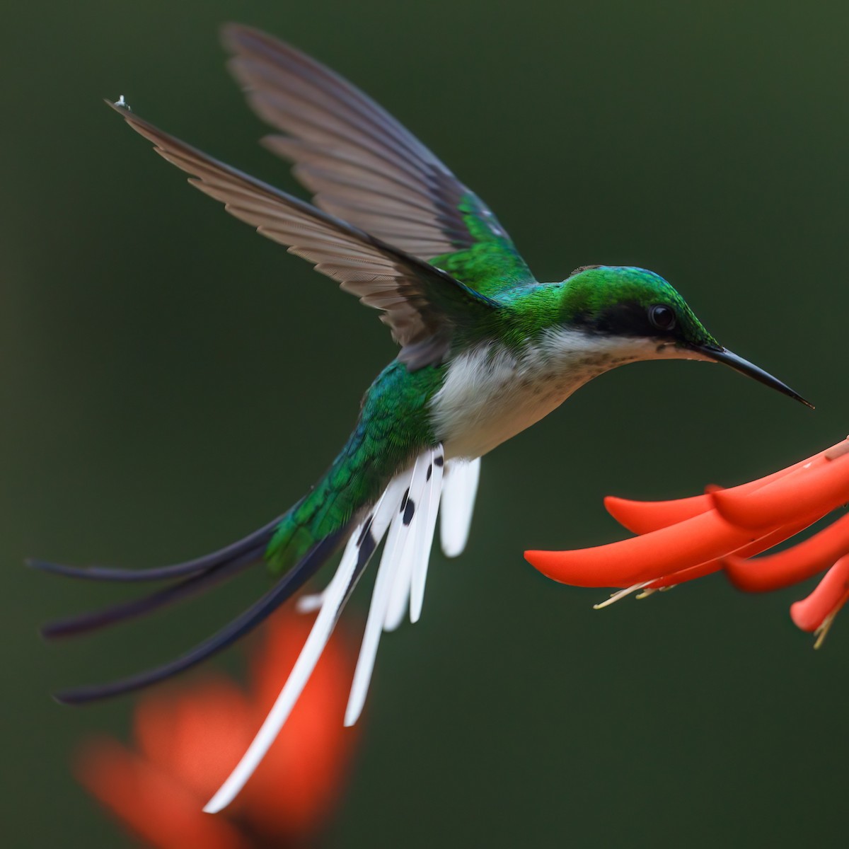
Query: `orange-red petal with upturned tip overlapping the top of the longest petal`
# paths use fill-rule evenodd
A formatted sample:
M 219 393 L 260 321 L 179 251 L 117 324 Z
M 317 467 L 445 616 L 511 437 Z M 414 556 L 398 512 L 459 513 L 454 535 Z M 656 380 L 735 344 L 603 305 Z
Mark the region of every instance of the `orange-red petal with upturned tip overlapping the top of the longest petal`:
M 719 513 L 740 527 L 778 526 L 800 514 L 826 514 L 849 500 L 849 455 L 822 455 L 751 494 L 714 492 Z

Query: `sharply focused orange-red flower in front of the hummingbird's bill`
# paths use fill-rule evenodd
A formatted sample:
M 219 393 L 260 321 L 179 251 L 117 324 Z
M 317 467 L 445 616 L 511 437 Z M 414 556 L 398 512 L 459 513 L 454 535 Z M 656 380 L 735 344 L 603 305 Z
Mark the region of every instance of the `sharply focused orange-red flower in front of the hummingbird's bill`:
M 807 599 L 790 608 L 798 627 L 818 634 L 818 647 L 849 599 L 849 515 L 779 554 L 749 558 L 847 501 L 849 439 L 772 475 L 731 489 L 709 486 L 694 498 L 605 498 L 608 512 L 637 537 L 572 551 L 526 551 L 525 557 L 554 581 L 621 588 L 597 607 L 720 569 L 750 593 L 787 587 L 828 569 Z

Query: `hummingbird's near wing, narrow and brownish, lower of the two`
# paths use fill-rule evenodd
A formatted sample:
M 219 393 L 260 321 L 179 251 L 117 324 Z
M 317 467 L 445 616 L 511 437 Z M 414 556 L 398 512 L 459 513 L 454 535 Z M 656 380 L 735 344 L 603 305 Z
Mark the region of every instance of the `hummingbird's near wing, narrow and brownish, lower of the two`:
M 222 201 L 233 216 L 311 261 L 367 306 L 382 310 L 408 368 L 438 363 L 453 330 L 486 321 L 502 307 L 450 274 L 350 224 L 212 159 L 129 110 L 110 104 L 166 160 L 192 175 L 188 182 Z

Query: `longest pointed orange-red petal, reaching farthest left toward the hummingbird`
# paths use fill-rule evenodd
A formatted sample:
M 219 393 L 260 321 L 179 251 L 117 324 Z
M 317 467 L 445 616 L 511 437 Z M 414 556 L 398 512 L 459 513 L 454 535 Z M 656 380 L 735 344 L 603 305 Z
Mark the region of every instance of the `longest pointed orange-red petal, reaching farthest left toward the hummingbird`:
M 576 587 L 630 587 L 737 551 L 763 536 L 729 525 L 716 511 L 619 543 L 573 551 L 526 551 L 543 575 Z

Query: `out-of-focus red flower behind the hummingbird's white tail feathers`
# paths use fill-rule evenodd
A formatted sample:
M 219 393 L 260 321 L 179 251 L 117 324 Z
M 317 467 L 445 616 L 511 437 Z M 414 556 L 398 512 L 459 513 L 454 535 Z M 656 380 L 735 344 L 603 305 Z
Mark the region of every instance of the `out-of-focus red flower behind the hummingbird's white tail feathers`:
M 223 676 L 138 703 L 134 749 L 114 739 L 82 747 L 82 784 L 150 846 L 256 849 L 312 845 L 339 800 L 357 732 L 343 728 L 353 657 L 332 638 L 289 721 L 226 814 L 202 807 L 256 734 L 295 664 L 309 617 L 290 610 L 251 657 L 251 686 Z

